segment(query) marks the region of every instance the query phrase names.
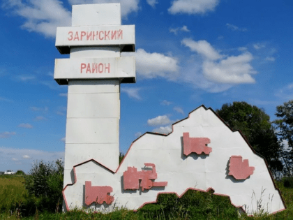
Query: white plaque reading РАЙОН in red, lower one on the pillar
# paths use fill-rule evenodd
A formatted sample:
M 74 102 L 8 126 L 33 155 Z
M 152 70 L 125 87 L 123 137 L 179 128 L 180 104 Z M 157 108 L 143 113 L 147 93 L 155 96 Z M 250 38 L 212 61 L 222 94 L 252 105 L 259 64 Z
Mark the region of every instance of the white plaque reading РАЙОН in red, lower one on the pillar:
M 54 80 L 123 78 L 135 82 L 134 57 L 55 59 Z

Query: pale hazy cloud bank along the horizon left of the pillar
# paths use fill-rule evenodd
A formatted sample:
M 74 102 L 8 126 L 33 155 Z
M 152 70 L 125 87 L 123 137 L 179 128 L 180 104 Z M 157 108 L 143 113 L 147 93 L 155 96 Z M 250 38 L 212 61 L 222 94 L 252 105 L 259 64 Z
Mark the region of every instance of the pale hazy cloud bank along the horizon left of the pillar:
M 64 152 L 46 152 L 38 149 L 0 147 L 0 152 L 0 167 L 2 170 L 23 170 L 24 173 L 31 170 L 33 161 L 52 162 L 64 158 Z

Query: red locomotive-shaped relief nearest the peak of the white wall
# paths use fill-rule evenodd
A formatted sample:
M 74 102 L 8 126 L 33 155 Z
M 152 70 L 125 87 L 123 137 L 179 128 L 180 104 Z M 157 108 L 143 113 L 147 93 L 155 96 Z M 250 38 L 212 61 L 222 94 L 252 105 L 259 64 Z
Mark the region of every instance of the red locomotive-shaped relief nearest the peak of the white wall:
M 183 154 L 188 156 L 192 152 L 196 154 L 209 154 L 211 147 L 207 147 L 211 140 L 209 138 L 189 138 L 189 133 L 183 133 Z

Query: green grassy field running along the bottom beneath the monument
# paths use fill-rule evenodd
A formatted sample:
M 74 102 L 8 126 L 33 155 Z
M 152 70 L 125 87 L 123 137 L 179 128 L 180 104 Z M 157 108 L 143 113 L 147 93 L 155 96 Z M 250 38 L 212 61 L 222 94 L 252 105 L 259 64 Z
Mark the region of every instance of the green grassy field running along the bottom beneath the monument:
M 287 210 L 269 216 L 259 213 L 255 217 L 239 217 L 229 198 L 191 190 L 180 199 L 174 194 L 160 195 L 158 203 L 145 205 L 137 212 L 86 214 L 82 210 L 48 211 L 45 198 L 29 196 L 24 188 L 24 177 L 0 175 L 0 219 L 293 219 L 293 189 L 285 188 L 283 182 L 277 185 Z

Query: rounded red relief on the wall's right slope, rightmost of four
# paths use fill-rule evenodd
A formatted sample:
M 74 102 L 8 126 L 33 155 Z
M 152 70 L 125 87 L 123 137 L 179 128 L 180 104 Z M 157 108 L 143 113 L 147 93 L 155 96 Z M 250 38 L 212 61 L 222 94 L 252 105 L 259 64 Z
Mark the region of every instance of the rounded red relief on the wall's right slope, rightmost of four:
M 231 156 L 229 163 L 229 174 L 235 179 L 247 179 L 253 175 L 253 166 L 249 166 L 248 159 L 242 161 L 242 156 Z

